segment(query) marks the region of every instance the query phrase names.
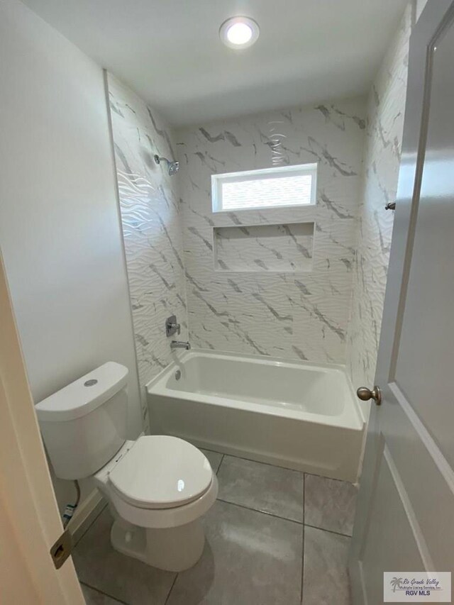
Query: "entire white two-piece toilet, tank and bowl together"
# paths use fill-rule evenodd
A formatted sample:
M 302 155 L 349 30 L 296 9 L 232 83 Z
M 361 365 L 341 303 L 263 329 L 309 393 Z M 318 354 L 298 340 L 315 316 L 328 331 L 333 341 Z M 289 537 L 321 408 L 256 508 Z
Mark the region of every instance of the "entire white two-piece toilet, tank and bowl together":
M 204 550 L 200 517 L 218 494 L 200 450 L 176 437 L 128 441 L 128 369 L 108 362 L 36 406 L 61 479 L 93 477 L 114 513 L 111 543 L 125 555 L 182 571 Z

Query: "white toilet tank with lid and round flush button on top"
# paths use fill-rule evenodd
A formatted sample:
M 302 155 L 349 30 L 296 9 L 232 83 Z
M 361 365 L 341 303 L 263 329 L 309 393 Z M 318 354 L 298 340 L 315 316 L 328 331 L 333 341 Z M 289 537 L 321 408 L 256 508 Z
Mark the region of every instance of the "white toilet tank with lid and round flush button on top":
M 94 474 L 126 441 L 128 368 L 107 362 L 35 406 L 60 479 Z

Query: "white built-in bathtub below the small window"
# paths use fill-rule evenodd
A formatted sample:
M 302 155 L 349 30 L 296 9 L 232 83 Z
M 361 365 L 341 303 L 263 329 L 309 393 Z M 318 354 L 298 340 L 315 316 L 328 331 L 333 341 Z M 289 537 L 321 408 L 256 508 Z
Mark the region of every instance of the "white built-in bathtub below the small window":
M 191 350 L 147 389 L 155 434 L 357 480 L 365 423 L 342 366 Z

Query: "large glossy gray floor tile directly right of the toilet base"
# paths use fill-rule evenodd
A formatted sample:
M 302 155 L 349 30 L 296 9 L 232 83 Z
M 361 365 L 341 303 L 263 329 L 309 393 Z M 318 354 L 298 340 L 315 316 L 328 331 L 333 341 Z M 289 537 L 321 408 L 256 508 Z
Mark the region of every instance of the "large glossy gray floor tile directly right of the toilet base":
M 217 501 L 204 526 L 204 554 L 167 605 L 299 604 L 302 525 Z

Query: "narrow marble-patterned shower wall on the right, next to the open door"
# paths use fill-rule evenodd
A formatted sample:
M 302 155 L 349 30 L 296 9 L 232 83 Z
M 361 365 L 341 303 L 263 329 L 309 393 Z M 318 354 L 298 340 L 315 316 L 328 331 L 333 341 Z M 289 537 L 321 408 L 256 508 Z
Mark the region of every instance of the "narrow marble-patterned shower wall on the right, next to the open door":
M 394 221 L 394 213 L 385 211 L 384 206 L 394 201 L 397 192 L 413 21 L 410 2 L 367 102 L 365 176 L 347 335 L 348 370 L 358 386 L 374 384 Z

